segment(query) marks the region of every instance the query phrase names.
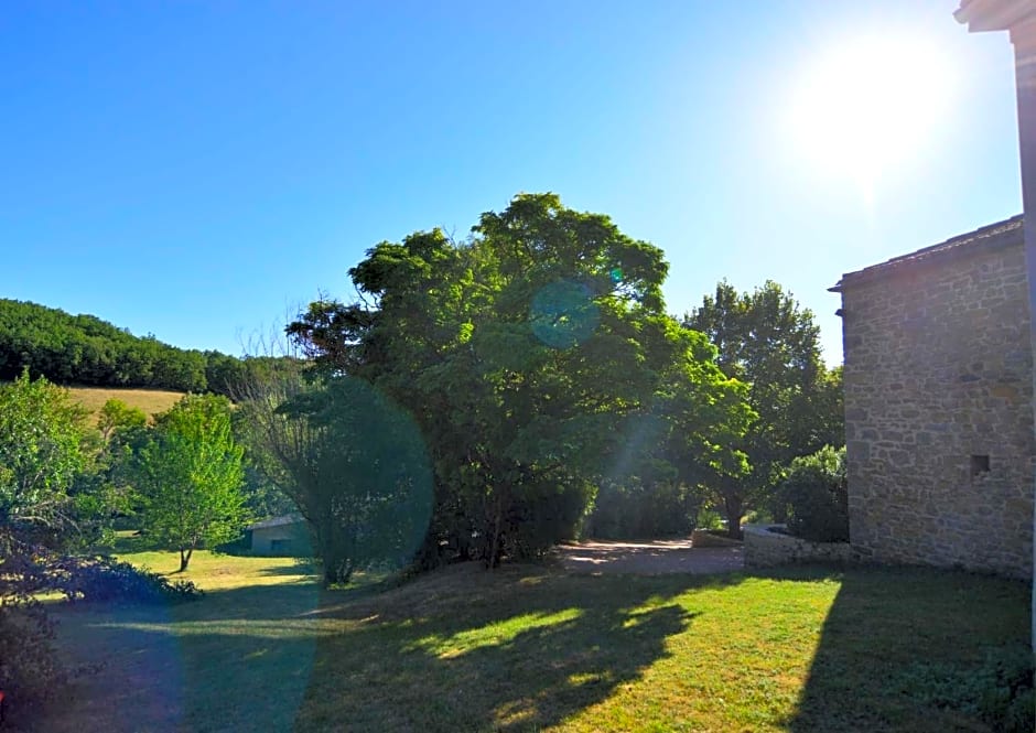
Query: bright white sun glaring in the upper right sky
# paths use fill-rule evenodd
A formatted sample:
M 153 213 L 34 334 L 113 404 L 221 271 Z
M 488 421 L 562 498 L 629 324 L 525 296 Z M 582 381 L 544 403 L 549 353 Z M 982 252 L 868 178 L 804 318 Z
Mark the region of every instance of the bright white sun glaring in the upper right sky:
M 821 55 L 792 93 L 799 152 L 871 190 L 917 157 L 951 97 L 951 65 L 925 39 L 871 36 Z

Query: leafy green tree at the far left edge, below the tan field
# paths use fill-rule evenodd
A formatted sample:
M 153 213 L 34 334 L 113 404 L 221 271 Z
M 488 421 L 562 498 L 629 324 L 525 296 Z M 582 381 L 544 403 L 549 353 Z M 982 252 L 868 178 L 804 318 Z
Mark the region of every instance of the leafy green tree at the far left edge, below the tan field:
M 73 522 L 68 493 L 88 460 L 83 418 L 46 379 L 0 385 L 0 522 Z

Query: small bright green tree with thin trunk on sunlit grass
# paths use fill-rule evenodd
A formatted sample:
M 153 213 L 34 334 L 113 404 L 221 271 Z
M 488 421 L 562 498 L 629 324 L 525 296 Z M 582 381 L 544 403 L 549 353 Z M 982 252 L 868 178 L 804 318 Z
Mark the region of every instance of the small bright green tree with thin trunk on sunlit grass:
M 187 395 L 158 416 L 137 457 L 144 528 L 180 551 L 180 570 L 202 543 L 234 538 L 244 518 L 242 450 L 230 431 L 230 403 Z

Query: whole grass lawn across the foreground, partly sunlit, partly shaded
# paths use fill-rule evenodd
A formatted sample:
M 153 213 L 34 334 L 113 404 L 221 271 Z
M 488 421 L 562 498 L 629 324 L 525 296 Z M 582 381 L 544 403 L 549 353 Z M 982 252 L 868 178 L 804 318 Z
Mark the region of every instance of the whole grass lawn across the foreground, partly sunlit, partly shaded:
M 63 648 L 106 665 L 40 730 L 982 731 L 908 681 L 1028 644 L 1028 588 L 963 573 L 455 567 L 320 592 L 307 571 L 199 552 L 197 603 L 61 610 Z

